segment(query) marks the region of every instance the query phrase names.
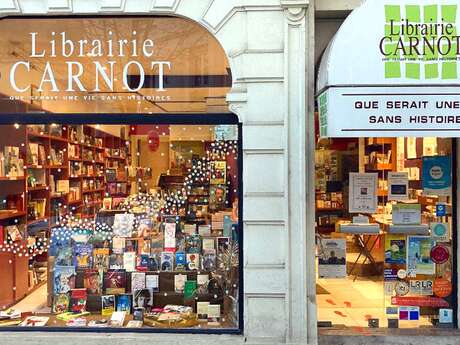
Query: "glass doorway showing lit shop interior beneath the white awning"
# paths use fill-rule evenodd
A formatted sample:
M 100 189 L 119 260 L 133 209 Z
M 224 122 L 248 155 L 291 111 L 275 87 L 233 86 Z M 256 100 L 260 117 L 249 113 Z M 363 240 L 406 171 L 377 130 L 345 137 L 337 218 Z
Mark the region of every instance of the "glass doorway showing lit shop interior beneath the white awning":
M 318 138 L 319 327 L 453 327 L 452 145 L 428 137 Z M 371 206 L 360 212 L 363 195 Z

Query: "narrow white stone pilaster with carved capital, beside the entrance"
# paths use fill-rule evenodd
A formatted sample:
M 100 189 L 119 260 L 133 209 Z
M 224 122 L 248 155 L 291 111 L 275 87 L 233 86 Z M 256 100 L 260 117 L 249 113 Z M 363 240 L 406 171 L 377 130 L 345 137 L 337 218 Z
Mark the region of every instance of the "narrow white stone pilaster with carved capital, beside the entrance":
M 285 126 L 288 152 L 288 343 L 308 343 L 307 282 L 314 280 L 307 255 L 307 80 L 309 0 L 281 0 L 284 9 Z

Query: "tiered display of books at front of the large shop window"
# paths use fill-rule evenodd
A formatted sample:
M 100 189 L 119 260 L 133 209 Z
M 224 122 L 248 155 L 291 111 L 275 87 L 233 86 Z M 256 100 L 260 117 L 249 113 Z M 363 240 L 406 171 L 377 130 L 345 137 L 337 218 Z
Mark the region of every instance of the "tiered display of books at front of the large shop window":
M 91 327 L 236 327 L 237 215 L 225 208 L 224 194 L 213 199 L 228 190 L 226 163 L 208 158 L 193 162 L 184 198 L 138 193 L 99 211 L 95 224 L 70 220 L 54 229 L 56 320 Z M 204 189 L 209 194 L 195 195 Z M 191 197 L 209 199 L 198 215 L 195 205 L 189 209 Z M 204 205 L 213 211 L 209 223 Z

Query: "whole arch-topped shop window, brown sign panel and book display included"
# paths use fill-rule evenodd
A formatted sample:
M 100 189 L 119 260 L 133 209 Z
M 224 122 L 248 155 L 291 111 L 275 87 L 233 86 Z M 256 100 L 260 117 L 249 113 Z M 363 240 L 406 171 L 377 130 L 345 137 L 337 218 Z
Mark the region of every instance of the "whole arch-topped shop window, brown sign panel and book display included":
M 172 17 L 0 32 L 0 329 L 240 332 L 241 126 L 217 40 Z

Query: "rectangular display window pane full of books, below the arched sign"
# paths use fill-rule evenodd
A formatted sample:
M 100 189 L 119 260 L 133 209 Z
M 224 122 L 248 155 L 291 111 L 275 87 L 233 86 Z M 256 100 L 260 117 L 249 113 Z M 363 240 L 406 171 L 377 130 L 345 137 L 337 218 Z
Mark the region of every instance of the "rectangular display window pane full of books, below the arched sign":
M 0 324 L 238 327 L 237 126 L 2 125 L 0 157 Z

